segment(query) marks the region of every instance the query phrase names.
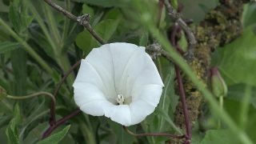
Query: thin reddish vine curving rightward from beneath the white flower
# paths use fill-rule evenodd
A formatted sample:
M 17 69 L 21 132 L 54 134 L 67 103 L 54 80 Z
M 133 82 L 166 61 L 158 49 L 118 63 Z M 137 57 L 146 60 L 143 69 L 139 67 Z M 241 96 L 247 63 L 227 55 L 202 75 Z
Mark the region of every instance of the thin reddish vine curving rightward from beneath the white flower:
M 169 134 L 169 133 L 145 133 L 145 134 L 134 134 L 133 132 L 131 132 L 130 130 L 128 130 L 128 128 L 126 126 L 122 126 L 122 128 L 124 130 L 126 130 L 126 132 L 130 135 L 133 135 L 135 137 L 144 137 L 144 136 L 169 136 L 172 138 L 187 138 L 186 135 L 182 135 L 182 136 L 178 136 L 178 135 L 174 135 L 174 134 Z

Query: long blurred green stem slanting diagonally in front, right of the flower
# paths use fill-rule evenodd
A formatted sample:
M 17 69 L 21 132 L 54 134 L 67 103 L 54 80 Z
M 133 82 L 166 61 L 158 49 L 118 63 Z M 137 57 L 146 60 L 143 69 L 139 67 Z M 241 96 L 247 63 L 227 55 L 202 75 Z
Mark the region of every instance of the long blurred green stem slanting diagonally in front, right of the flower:
M 152 24 L 151 19 L 149 18 L 149 14 L 145 9 L 145 6 L 142 6 L 140 1 L 133 0 L 134 5 L 137 6 L 138 10 L 142 12 L 142 22 L 147 28 L 150 30 L 151 34 L 154 34 L 154 36 L 158 39 L 158 42 L 162 44 L 162 46 L 165 48 L 165 50 L 168 50 L 171 58 L 174 59 L 174 62 L 177 63 L 177 65 L 180 67 L 180 69 L 190 78 L 192 82 L 196 86 L 198 86 L 198 89 L 201 90 L 202 95 L 206 98 L 206 101 L 210 104 L 211 110 L 215 115 L 218 115 L 219 118 L 221 118 L 222 122 L 226 123 L 226 126 L 230 128 L 238 136 L 238 139 L 244 143 L 244 144 L 253 144 L 248 137 L 248 135 L 240 130 L 240 128 L 235 124 L 235 122 L 230 118 L 230 116 L 226 113 L 225 110 L 221 110 L 218 106 L 218 102 L 214 99 L 214 96 L 210 93 L 209 90 L 206 89 L 205 85 L 198 80 L 197 75 L 194 73 L 193 70 L 191 70 L 190 66 L 186 64 L 184 59 L 180 56 L 180 54 L 177 53 L 174 49 L 170 49 L 170 42 L 166 39 L 166 36 L 160 34 L 158 32 L 158 29 Z

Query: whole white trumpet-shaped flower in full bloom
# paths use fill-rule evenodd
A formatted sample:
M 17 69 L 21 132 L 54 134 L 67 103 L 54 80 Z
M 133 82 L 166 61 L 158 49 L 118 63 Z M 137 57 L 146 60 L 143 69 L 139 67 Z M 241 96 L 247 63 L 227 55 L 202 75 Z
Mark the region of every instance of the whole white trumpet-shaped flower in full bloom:
M 86 114 L 131 126 L 154 112 L 163 83 L 145 47 L 110 43 L 82 59 L 73 86 L 74 101 Z

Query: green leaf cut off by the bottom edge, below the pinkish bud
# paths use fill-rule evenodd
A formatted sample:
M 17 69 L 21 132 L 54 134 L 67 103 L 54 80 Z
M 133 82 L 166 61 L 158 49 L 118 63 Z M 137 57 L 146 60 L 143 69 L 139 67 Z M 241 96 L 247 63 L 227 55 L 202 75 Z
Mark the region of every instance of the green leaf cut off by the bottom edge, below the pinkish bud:
M 200 144 L 240 144 L 238 137 L 231 130 L 207 130 Z

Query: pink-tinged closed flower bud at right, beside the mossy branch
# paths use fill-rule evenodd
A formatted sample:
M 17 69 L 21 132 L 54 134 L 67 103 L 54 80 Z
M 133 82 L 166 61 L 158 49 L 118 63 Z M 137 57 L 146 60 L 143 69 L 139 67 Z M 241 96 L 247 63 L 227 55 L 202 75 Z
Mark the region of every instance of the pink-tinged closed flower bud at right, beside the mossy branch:
M 210 90 L 215 97 L 224 97 L 227 93 L 226 82 L 223 80 L 221 74 L 218 73 L 216 66 L 210 70 Z

